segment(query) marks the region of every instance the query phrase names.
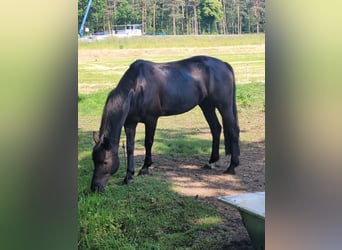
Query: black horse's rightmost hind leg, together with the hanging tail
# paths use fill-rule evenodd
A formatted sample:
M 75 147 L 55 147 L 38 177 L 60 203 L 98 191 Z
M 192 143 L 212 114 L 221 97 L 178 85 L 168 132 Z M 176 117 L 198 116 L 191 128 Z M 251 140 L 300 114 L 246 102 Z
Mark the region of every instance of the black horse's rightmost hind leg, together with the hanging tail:
M 240 160 L 240 146 L 239 146 L 239 133 L 240 129 L 236 116 L 233 111 L 229 109 L 219 108 L 222 115 L 224 144 L 226 155 L 231 155 L 230 165 L 224 171 L 227 174 L 235 174 L 235 167 L 239 166 Z

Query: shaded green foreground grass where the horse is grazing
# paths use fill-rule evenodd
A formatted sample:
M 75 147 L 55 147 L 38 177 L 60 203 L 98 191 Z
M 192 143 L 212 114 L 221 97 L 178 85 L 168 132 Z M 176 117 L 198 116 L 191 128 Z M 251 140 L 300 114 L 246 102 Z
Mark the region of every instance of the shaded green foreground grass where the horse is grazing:
M 159 176 L 122 185 L 124 167 L 104 194 L 90 193 L 91 146 L 91 133 L 79 131 L 79 249 L 187 249 L 221 223 L 214 208 L 176 194 Z

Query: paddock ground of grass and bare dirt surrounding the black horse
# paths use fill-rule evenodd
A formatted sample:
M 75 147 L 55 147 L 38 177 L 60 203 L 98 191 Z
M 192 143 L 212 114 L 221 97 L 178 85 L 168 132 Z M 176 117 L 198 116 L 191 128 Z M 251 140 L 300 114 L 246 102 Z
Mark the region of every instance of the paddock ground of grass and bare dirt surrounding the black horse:
M 238 211 L 222 204 L 217 197 L 265 191 L 264 44 L 213 46 L 79 50 L 79 245 L 127 247 L 135 239 L 137 244 L 148 245 L 153 241 L 161 248 L 206 244 L 215 249 L 252 249 Z M 101 196 L 90 194 L 92 131 L 98 130 L 108 91 L 135 59 L 162 62 L 190 54 L 217 57 L 229 62 L 236 72 L 241 129 L 240 166 L 236 168 L 236 175 L 222 175 L 224 169 L 220 167 L 203 168 L 210 156 L 211 135 L 197 107 L 182 115 L 159 119 L 152 148 L 154 164 L 149 176 L 136 176 L 134 184 L 122 185 L 125 155 L 119 150 L 120 169 L 111 177 L 108 190 Z M 144 161 L 143 138 L 144 126 L 139 124 L 135 147 L 137 171 Z M 123 135 L 121 142 L 125 142 Z M 220 156 L 221 161 L 227 161 L 223 157 L 223 142 Z M 173 202 L 168 203 L 171 198 Z M 137 202 L 145 209 L 138 207 Z M 121 210 L 114 213 L 113 208 Z M 178 218 L 177 222 L 172 222 L 169 214 Z M 177 217 L 182 214 L 185 216 L 182 219 Z M 148 216 L 157 222 L 145 232 L 149 239 L 143 240 L 141 230 L 152 220 Z M 169 224 L 175 223 L 174 228 L 164 225 L 162 218 Z M 124 232 L 127 237 L 120 238 L 118 235 Z M 113 237 L 120 240 L 114 244 Z

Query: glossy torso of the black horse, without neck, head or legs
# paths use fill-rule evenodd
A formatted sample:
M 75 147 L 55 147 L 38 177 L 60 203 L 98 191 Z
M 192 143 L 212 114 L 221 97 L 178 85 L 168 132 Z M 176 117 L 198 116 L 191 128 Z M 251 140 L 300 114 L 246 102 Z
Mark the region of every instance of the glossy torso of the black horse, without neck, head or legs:
M 234 94 L 232 67 L 209 56 L 165 63 L 139 59 L 128 71 L 127 79 L 132 88 L 143 91 L 146 107 L 150 103 L 163 115 L 186 112 L 203 100 L 231 103 Z

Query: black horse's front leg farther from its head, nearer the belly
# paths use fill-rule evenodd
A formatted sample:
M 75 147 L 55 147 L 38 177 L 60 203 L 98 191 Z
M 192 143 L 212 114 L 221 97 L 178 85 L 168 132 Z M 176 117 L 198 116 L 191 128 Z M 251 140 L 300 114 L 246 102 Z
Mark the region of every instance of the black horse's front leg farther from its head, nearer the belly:
M 148 174 L 148 167 L 152 165 L 152 145 L 156 132 L 158 118 L 148 117 L 145 121 L 145 160 L 139 175 Z

